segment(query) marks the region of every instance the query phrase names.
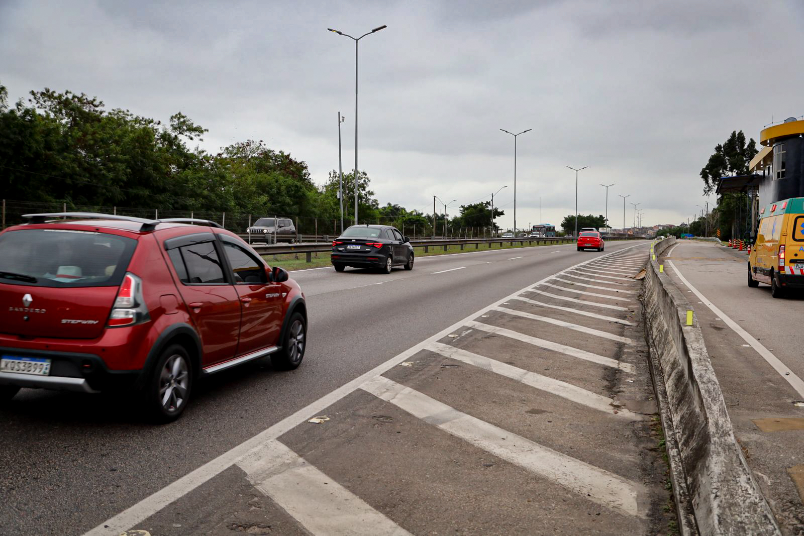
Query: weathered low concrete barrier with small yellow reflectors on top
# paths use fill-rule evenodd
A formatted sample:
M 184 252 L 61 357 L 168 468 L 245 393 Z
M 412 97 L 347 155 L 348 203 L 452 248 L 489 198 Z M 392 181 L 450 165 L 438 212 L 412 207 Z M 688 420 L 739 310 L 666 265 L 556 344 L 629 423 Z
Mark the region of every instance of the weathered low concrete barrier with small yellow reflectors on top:
M 745 462 L 692 306 L 659 268 L 645 277 L 647 338 L 682 534 L 780 534 Z

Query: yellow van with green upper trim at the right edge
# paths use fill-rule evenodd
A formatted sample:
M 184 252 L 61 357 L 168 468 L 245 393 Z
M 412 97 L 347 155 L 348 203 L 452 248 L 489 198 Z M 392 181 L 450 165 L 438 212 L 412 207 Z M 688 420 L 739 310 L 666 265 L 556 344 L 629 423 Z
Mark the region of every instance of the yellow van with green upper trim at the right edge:
M 749 255 L 749 287 L 760 283 L 770 285 L 774 298 L 804 287 L 804 198 L 762 207 Z

